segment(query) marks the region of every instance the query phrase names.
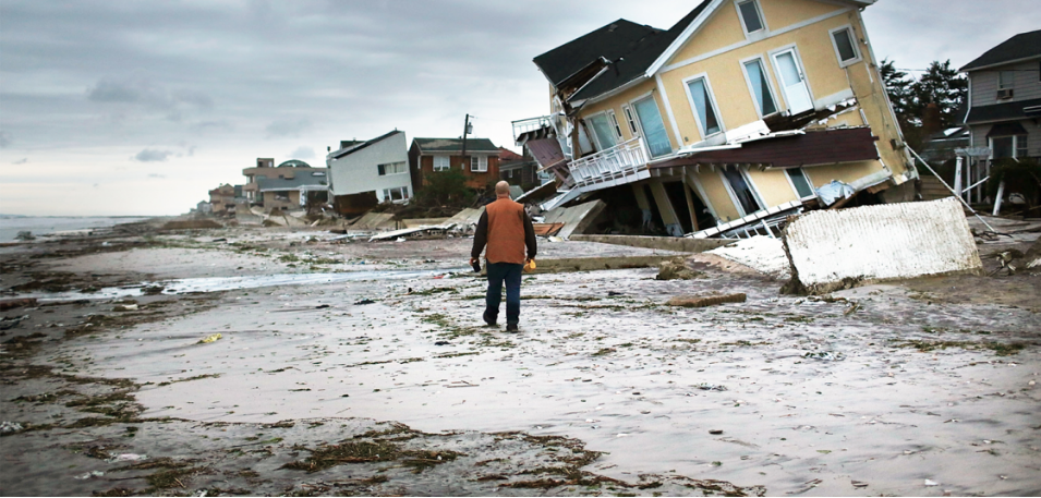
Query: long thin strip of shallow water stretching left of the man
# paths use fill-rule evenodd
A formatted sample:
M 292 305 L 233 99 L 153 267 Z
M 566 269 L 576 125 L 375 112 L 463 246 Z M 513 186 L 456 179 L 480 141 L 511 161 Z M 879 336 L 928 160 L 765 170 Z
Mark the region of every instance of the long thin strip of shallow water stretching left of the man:
M 245 277 L 205 277 L 174 280 L 158 280 L 142 282 L 137 286 L 108 287 L 96 292 L 29 292 L 15 297 L 36 297 L 44 302 L 75 301 L 75 300 L 107 300 L 134 297 L 143 295 L 143 289 L 161 287 L 162 294 L 187 294 L 198 292 L 220 292 L 240 289 L 256 289 L 277 286 L 302 286 L 336 283 L 360 280 L 407 280 L 413 278 L 435 277 L 468 271 L 469 268 L 440 268 L 433 270 L 378 270 L 378 271 L 343 271 L 337 274 L 275 274 L 254 275 Z

